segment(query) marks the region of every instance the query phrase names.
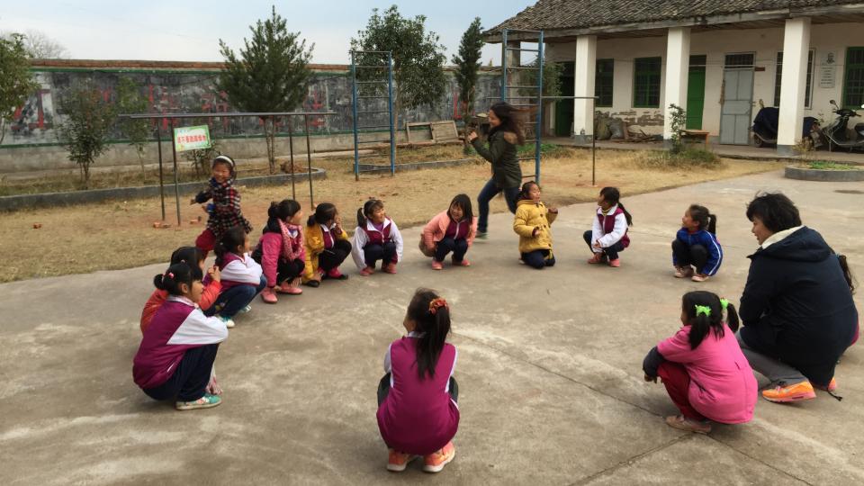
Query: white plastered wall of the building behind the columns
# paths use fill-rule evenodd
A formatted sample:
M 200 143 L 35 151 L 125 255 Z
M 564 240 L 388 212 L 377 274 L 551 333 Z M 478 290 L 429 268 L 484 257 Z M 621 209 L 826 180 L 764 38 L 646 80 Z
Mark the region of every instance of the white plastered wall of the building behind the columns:
M 829 100 L 842 97 L 843 70 L 846 48 L 864 46 L 864 24 L 831 23 L 813 25 L 810 32 L 810 48 L 815 50 L 814 74 L 812 83 L 811 108 L 805 109 L 805 116 L 814 116 L 824 121 L 834 118 Z M 742 29 L 694 32 L 690 37 L 690 54 L 707 55 L 705 110 L 702 118 L 703 130 L 719 135 L 720 130 L 720 87 L 723 83 L 723 65 L 726 54 L 755 52 L 757 71 L 753 76 L 752 115 L 759 111 L 759 101 L 765 106 L 774 103 L 774 80 L 777 52 L 783 50 L 783 29 Z M 819 87 L 819 67 L 825 54 L 835 53 L 835 84 L 833 88 Z M 549 61 L 572 61 L 576 43 L 550 44 L 546 48 Z M 613 87 L 613 116 L 635 124 L 646 133 L 662 133 L 662 106 L 664 106 L 663 85 L 661 80 L 660 107 L 656 109 L 633 108 L 633 60 L 634 58 L 663 57 L 665 71 L 666 38 L 646 37 L 633 39 L 598 40 L 597 58 L 615 59 L 615 85 Z M 764 70 L 759 70 L 764 68 Z M 579 73 L 576 73 L 579 76 Z M 664 76 L 665 77 L 665 76 Z M 860 121 L 859 121 L 860 122 Z

